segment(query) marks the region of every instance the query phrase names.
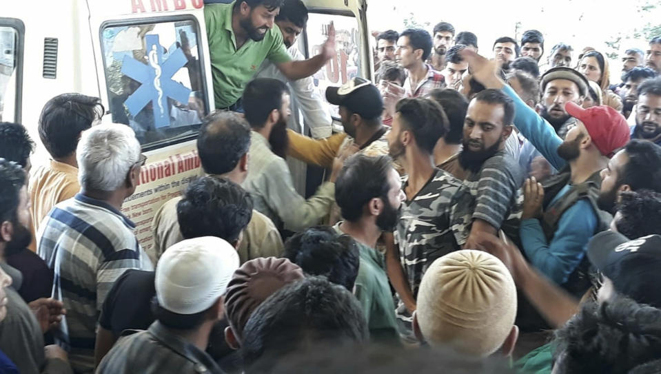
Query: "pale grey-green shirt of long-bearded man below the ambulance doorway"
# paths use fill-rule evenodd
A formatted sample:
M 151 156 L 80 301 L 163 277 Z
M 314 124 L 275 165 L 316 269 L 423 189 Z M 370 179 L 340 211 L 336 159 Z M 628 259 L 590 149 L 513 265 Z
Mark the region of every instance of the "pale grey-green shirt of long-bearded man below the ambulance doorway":
M 271 151 L 267 139 L 257 132 L 252 132 L 250 138 L 250 161 L 243 188 L 250 192 L 254 209 L 279 228 L 300 231 L 317 225 L 335 201 L 335 183 L 323 183 L 314 196 L 305 200 L 294 189 L 287 163 Z

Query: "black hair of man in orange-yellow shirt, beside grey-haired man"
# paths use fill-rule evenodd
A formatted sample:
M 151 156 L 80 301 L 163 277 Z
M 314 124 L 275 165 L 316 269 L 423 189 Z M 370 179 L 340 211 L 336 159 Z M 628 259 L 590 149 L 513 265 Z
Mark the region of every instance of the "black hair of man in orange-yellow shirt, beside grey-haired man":
M 39 116 L 39 138 L 56 160 L 76 152 L 81 132 L 105 113 L 98 97 L 61 94 L 51 98 Z

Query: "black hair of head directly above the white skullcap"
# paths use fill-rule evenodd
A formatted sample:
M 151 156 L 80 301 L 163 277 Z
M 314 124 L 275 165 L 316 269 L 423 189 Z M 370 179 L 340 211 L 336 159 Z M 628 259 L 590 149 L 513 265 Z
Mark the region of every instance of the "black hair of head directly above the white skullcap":
M 230 180 L 203 176 L 186 188 L 176 217 L 185 239 L 215 236 L 236 243 L 252 218 L 252 198 Z

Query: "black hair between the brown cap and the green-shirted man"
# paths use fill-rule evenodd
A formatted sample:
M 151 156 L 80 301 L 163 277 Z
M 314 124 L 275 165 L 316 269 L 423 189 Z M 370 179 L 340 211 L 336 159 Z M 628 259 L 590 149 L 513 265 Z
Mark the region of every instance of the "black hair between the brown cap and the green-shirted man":
M 283 258 L 312 276 L 325 276 L 347 290 L 354 289 L 359 253 L 354 239 L 328 226 L 314 226 L 295 233 L 285 242 Z

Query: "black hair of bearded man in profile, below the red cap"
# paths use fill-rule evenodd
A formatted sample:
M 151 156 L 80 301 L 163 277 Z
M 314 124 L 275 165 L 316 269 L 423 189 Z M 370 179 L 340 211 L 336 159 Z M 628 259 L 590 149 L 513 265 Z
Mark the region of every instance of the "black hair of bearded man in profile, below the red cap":
M 618 185 L 661 193 L 661 146 L 633 139 L 624 146 L 624 152 L 629 162 L 618 171 Z

